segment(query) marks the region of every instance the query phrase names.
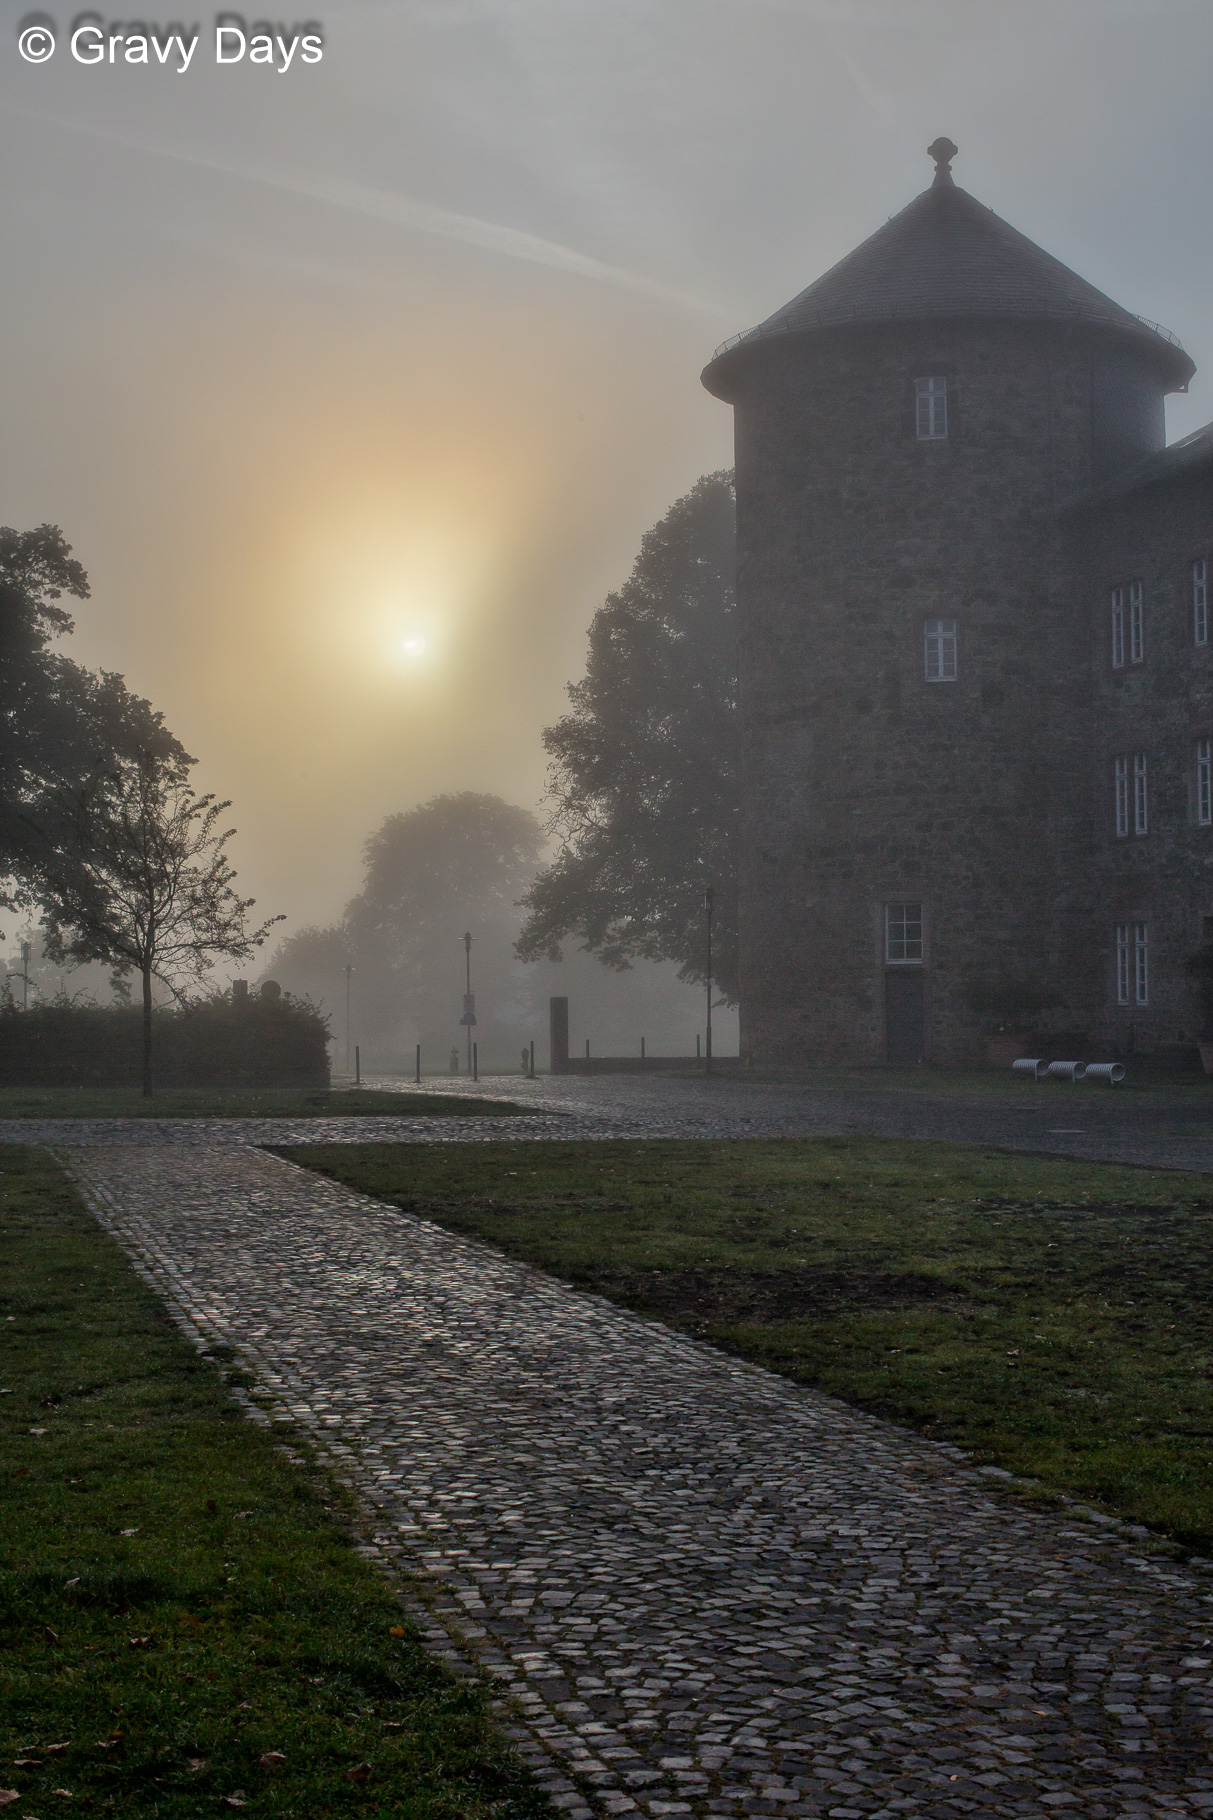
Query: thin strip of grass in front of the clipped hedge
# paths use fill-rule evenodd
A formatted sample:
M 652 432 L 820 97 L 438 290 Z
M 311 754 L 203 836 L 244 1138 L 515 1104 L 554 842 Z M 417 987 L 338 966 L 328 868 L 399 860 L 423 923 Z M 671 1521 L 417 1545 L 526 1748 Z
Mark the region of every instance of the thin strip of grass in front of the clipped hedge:
M 381 1092 L 372 1087 L 0 1087 L 0 1119 L 322 1119 L 337 1114 L 484 1117 L 535 1112 L 508 1099 Z

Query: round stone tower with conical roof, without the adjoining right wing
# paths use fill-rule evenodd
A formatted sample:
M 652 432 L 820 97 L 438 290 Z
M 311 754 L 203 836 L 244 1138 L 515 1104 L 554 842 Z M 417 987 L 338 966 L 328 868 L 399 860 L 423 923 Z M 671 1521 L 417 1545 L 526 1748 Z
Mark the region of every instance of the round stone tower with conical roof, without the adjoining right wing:
M 703 373 L 736 413 L 750 1061 L 962 1061 L 991 1005 L 1086 1026 L 1102 990 L 1062 513 L 1162 448 L 1193 362 L 954 153 Z

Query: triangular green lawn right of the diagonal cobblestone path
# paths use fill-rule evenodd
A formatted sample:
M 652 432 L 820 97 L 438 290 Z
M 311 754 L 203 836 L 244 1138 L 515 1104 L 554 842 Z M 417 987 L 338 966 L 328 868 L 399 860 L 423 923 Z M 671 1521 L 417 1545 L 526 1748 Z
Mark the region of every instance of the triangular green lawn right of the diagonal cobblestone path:
M 1213 1181 L 945 1143 L 293 1161 L 1213 1552 Z

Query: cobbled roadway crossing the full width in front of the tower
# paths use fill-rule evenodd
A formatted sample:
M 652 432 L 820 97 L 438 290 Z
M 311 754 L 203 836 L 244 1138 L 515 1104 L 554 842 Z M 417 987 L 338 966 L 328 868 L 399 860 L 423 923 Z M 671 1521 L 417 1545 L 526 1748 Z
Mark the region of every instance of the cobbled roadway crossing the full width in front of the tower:
M 377 1079 L 406 1087 L 410 1079 Z M 466 1077 L 423 1083 L 466 1094 Z M 1213 1170 L 1213 1081 L 1202 1092 L 1009 1081 L 965 1088 L 818 1087 L 718 1076 L 495 1076 L 479 1094 L 528 1107 L 525 1117 L 0 1119 L 7 1143 L 291 1145 L 483 1143 L 505 1138 L 945 1138 L 1009 1150 Z

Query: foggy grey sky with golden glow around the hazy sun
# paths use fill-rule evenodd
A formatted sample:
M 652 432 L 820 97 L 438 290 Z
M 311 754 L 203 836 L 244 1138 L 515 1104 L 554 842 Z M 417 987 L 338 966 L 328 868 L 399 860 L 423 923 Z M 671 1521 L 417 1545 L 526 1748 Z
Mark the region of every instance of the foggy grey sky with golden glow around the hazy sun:
M 4 0 L 0 521 L 235 799 L 240 883 L 333 917 L 443 790 L 537 806 L 539 730 L 641 533 L 730 464 L 699 386 L 956 180 L 1198 362 L 1209 0 L 319 0 L 315 67 L 16 53 Z M 106 20 L 129 9 L 102 7 Z M 251 9 L 248 11 L 251 15 Z M 424 657 L 403 641 L 423 637 Z

